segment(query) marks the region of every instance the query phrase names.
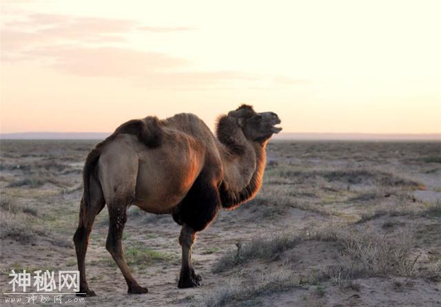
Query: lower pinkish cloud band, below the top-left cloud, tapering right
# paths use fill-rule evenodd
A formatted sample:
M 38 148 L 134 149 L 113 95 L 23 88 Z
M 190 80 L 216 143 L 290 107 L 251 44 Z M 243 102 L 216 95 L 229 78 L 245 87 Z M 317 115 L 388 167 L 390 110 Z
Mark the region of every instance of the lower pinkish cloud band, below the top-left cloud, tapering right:
M 32 50 L 56 70 L 78 76 L 125 78 L 150 88 L 201 88 L 231 81 L 254 81 L 244 72 L 191 72 L 185 59 L 159 52 L 142 52 L 118 47 L 59 47 Z

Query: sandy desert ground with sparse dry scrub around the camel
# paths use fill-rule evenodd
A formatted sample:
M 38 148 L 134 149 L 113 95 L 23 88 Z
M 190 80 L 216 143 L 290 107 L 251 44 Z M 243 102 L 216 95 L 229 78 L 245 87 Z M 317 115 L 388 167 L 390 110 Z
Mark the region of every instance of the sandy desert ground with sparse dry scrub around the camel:
M 95 143 L 1 140 L 1 293 L 12 269 L 76 270 Z M 125 255 L 149 293 L 127 295 L 107 223 L 103 209 L 86 256 L 97 296 L 66 305 L 441 306 L 441 142 L 269 142 L 256 198 L 198 233 L 199 288 L 176 287 L 180 226 L 130 207 Z

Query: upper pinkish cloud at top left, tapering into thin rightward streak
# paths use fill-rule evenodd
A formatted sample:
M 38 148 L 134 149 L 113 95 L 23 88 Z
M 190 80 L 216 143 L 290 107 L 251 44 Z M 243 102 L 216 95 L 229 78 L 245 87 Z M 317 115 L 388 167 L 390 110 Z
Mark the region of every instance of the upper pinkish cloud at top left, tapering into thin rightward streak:
M 156 28 L 125 19 L 30 14 L 24 20 L 6 22 L 1 26 L 1 51 L 9 58 L 13 58 L 13 54 L 10 53 L 30 50 L 35 46 L 63 43 L 83 45 L 127 43 L 127 36 L 140 30 L 165 33 L 190 29 L 187 27 Z

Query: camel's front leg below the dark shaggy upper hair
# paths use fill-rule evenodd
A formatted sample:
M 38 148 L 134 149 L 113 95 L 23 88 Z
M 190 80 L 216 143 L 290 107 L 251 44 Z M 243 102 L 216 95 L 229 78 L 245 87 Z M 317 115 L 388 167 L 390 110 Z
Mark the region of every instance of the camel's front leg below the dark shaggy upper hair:
M 192 264 L 192 246 L 196 241 L 196 231 L 190 226 L 183 224 L 179 244 L 182 247 L 181 275 L 179 276 L 178 288 L 192 288 L 201 286 L 201 276 L 194 273 Z

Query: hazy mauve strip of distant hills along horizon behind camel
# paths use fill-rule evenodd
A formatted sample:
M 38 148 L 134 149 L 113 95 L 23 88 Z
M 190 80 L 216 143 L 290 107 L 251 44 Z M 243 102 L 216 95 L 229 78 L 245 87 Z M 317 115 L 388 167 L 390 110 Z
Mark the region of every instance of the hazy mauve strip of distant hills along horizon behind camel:
M 21 132 L 0 134 L 2 140 L 102 140 L 110 132 Z M 280 133 L 276 140 L 437 140 L 441 134 L 331 134 Z

